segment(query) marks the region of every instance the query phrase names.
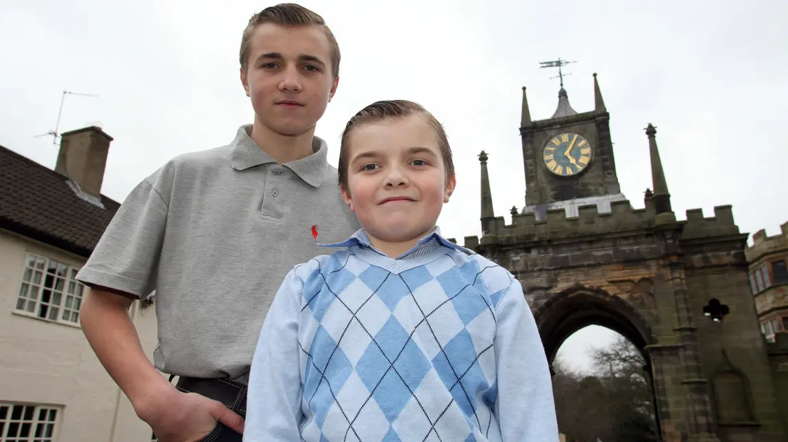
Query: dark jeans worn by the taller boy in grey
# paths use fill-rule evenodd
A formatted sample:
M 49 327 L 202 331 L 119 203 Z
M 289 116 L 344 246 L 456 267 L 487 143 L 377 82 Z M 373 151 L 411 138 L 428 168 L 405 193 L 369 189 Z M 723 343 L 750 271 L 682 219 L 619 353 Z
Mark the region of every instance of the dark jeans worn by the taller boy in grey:
M 176 384 L 182 392 L 192 392 L 224 403 L 230 410 L 246 418 L 246 385 L 227 379 L 180 378 Z M 202 442 L 242 442 L 243 437 L 218 423 Z

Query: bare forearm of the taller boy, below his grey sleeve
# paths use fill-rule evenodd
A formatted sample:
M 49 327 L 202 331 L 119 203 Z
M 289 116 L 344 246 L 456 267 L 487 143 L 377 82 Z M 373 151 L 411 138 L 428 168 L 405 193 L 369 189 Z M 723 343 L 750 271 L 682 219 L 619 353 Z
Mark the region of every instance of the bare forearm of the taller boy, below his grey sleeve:
M 128 315 L 131 304 L 129 298 L 92 289 L 82 305 L 80 322 L 99 361 L 143 418 L 148 404 L 174 387 L 145 355 Z

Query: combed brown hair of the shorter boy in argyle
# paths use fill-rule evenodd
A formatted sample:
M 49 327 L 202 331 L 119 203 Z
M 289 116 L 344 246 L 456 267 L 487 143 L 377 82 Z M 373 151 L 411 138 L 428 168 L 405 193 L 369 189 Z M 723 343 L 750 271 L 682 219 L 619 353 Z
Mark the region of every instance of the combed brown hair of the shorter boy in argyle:
M 366 108 L 361 109 L 348 121 L 342 131 L 342 141 L 340 144 L 340 163 L 337 167 L 339 175 L 340 186 L 348 186 L 348 138 L 354 127 L 365 123 L 374 123 L 377 121 L 388 120 L 391 118 L 402 118 L 404 116 L 420 115 L 423 116 L 427 123 L 433 127 L 438 138 L 438 147 L 440 147 L 440 156 L 443 157 L 444 171 L 446 172 L 446 179 L 454 175 L 454 161 L 452 160 L 452 148 L 448 145 L 448 137 L 443 124 L 424 109 L 422 105 L 414 101 L 407 100 L 385 100 L 375 101 Z

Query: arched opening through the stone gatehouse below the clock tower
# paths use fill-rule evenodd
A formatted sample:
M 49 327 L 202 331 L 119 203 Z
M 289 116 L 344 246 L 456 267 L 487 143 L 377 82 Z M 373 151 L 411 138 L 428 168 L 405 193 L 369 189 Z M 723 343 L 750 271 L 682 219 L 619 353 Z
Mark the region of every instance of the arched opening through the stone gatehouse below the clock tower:
M 661 440 L 646 351 L 655 338 L 634 306 L 603 290 L 577 286 L 554 295 L 534 316 L 553 374 L 559 430 L 567 440 Z M 586 344 L 594 350 L 590 358 L 578 358 L 589 364 L 586 370 L 573 369 L 574 358 L 566 353 L 556 360 L 567 339 L 588 326 L 604 327 L 618 339 Z

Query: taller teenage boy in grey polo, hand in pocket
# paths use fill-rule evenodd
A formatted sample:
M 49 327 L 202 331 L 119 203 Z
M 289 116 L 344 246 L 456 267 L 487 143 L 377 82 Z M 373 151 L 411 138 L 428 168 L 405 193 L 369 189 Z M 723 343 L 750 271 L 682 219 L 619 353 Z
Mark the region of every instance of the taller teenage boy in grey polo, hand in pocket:
M 332 32 L 309 9 L 251 17 L 240 79 L 254 123 L 140 182 L 78 275 L 91 287 L 87 341 L 161 442 L 241 440 L 249 366 L 277 286 L 318 241 L 358 229 L 314 136 L 339 64 Z M 128 308 L 154 290 L 151 365 Z

